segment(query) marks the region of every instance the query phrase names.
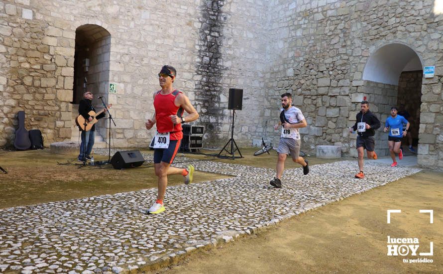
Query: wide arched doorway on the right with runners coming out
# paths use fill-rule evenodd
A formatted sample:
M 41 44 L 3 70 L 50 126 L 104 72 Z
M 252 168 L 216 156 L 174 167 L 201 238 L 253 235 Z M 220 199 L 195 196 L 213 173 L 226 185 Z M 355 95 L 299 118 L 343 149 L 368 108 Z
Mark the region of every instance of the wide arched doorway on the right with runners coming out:
M 418 54 L 409 46 L 392 43 L 378 48 L 367 61 L 363 80 L 368 93 L 368 101 L 375 106 L 382 128 L 389 116 L 391 106 L 404 107 L 409 113 L 410 134 L 414 152 L 417 150 L 420 105 L 422 96 L 423 65 Z M 376 150 L 380 155 L 388 155 L 387 134 L 380 130 L 376 136 Z M 408 138 L 403 139 L 405 154 L 411 145 Z

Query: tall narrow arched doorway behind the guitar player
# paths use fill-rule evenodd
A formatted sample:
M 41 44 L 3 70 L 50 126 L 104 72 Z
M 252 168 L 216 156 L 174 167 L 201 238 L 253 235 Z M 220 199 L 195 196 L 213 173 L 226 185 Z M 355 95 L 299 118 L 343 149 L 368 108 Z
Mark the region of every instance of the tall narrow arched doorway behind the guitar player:
M 75 32 L 74 85 L 72 99 L 73 118 L 78 116 L 78 104 L 86 91 L 94 94 L 93 105 L 102 109 L 100 96 L 108 102 L 108 86 L 110 74 L 111 34 L 105 28 L 85 24 Z M 106 137 L 107 126 L 104 119 L 99 120 L 94 147 L 104 147 L 101 136 Z M 78 130 L 73 129 L 72 140 L 77 141 Z M 103 143 L 102 143 L 103 142 Z

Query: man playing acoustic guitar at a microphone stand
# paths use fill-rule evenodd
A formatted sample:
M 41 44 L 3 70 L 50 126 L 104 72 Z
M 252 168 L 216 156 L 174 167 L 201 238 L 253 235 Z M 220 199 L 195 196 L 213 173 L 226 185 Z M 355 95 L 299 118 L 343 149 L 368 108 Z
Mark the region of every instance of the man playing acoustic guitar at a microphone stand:
M 94 107 L 92 106 L 92 99 L 94 98 L 94 94 L 92 94 L 90 91 L 87 91 L 83 94 L 83 99 L 80 100 L 79 104 L 79 114 L 85 118 L 85 120 L 91 122 L 95 119 L 101 119 L 105 117 L 105 112 L 102 112 L 96 117 L 92 117 L 89 115 L 90 111 L 96 111 Z M 85 129 L 84 125 L 79 125 L 80 128 Z M 84 162 L 86 160 L 91 159 L 91 151 L 92 147 L 94 146 L 94 138 L 95 138 L 95 130 L 96 125 L 93 125 L 91 130 L 85 131 L 82 130 L 82 143 L 80 144 L 80 154 L 78 157 L 78 160 L 80 162 Z

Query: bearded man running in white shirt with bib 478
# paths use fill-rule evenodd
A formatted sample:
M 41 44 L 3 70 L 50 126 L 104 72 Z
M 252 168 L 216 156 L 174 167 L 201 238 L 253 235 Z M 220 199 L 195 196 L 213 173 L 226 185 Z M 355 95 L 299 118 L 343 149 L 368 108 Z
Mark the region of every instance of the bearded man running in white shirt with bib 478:
M 292 160 L 303 166 L 303 174 L 309 173 L 308 161 L 299 156 L 300 153 L 300 128 L 305 128 L 305 117 L 302 111 L 292 106 L 292 95 L 290 93 L 284 93 L 281 95 L 282 109 L 280 113 L 280 122 L 274 126 L 277 130 L 278 126 L 282 126 L 282 132 L 280 142 L 278 143 L 278 160 L 277 160 L 277 174 L 269 183 L 276 187 L 282 187 L 281 177 L 283 169 L 285 168 L 286 156 L 291 153 Z

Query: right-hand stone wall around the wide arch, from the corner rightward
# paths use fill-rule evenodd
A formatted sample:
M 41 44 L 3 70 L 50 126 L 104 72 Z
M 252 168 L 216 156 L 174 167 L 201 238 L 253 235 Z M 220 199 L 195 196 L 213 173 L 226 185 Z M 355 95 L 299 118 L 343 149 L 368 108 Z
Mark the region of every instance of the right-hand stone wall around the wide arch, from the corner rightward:
M 353 103 L 353 98 L 367 94 L 371 110 L 379 112 L 382 120 L 389 113 L 378 106 L 385 100 L 385 94 L 375 92 L 392 90 L 388 104 L 397 104 L 396 86 L 381 84 L 380 89 L 367 90 L 363 79 L 365 64 L 382 46 L 401 43 L 412 48 L 424 66 L 437 68 L 437 76 L 425 79 L 422 87 L 419 138 L 423 144 L 419 145 L 419 162 L 428 161 L 427 166 L 441 169 L 443 158 L 437 151 L 443 129 L 439 124 L 442 115 L 439 79 L 443 70 L 438 68 L 442 66 L 439 29 L 443 26 L 443 16 L 434 11 L 434 1 L 287 0 L 275 3 L 272 14 L 275 16 L 269 24 L 270 62 L 266 81 L 272 102 L 267 110 L 270 117 L 277 117 L 279 95 L 284 92 L 295 95 L 294 103 L 302 109 L 309 124 L 301 131 L 303 150 L 313 151 L 317 144 L 335 144 L 341 145 L 345 153 L 354 153 L 354 149 L 348 149 L 354 140 L 348 139 L 345 129 L 355 119 L 358 104 Z M 274 141 L 277 139 L 278 135 L 274 136 Z M 379 140 L 379 145 L 384 145 L 381 137 Z M 383 149 L 379 145 L 376 149 Z

